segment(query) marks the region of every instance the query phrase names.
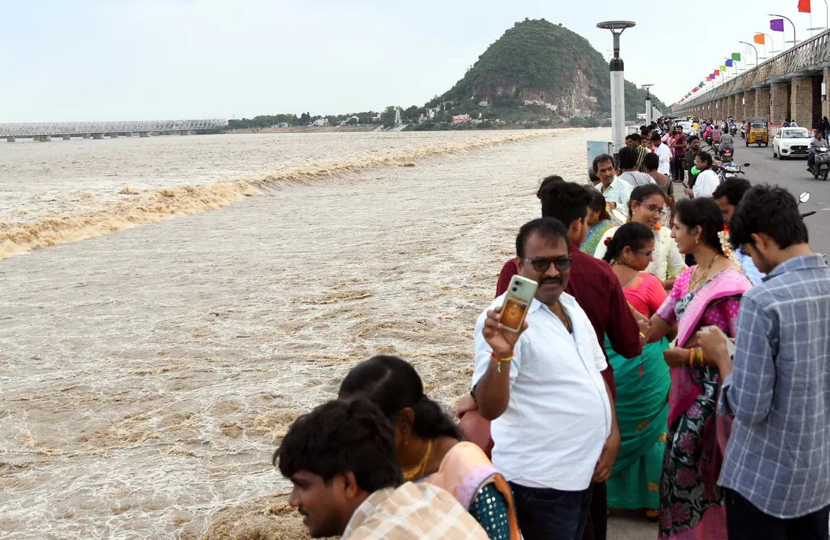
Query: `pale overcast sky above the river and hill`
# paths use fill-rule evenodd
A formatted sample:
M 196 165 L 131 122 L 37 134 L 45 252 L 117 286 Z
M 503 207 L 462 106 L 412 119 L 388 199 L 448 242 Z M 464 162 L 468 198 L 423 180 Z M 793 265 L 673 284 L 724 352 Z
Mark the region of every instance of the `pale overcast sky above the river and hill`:
M 653 84 L 671 104 L 724 57 L 745 54 L 738 41 L 754 32 L 781 49 L 767 13 L 790 17 L 798 39 L 807 37 L 810 18 L 797 4 L 733 0 L 723 24 L 694 2 L 0 0 L 0 124 L 423 105 L 525 17 L 561 22 L 606 57 L 612 38 L 597 22 L 637 22 L 622 36 L 626 78 Z M 822 0 L 813 11 L 823 27 Z

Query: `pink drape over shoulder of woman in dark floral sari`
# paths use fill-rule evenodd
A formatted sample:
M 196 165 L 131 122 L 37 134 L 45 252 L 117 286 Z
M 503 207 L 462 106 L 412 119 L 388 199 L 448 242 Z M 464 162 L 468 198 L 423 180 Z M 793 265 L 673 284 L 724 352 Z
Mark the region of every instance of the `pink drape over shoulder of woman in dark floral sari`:
M 744 294 L 752 284 L 746 276 L 737 270 L 724 270 L 715 275 L 706 285 L 695 293 L 683 316 L 677 323 L 677 343 L 679 346 L 685 344 L 691 335 L 698 328 L 706 309 L 715 300 L 740 296 Z M 689 291 L 686 291 L 688 294 Z M 701 387 L 697 386 L 691 378 L 691 370 L 686 367 L 671 367 L 671 388 L 669 390 L 669 425 L 683 414 L 691 406 L 699 393 Z

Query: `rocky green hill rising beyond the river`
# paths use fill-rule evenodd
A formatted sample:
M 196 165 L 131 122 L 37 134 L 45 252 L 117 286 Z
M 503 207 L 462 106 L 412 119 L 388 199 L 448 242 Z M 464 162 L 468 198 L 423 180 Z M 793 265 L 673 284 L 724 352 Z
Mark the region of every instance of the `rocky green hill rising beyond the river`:
M 625 97 L 627 118 L 645 112 L 645 90 L 626 81 Z M 611 110 L 608 62 L 588 40 L 561 24 L 525 19 L 487 47 L 451 90 L 427 106 L 445 100 L 467 102 L 466 108 L 482 100 L 499 108 L 539 100 L 564 118 L 604 119 Z M 658 109 L 668 110 L 654 95 L 652 100 Z

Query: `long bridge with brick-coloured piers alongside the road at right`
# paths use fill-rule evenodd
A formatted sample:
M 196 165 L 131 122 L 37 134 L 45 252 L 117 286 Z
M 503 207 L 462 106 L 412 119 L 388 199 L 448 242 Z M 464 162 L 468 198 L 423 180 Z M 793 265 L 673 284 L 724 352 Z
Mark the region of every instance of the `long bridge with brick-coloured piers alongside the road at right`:
M 816 120 L 830 116 L 828 89 L 830 31 L 825 31 L 672 111 L 712 119 L 766 116 L 776 126 L 795 119 L 812 128 Z

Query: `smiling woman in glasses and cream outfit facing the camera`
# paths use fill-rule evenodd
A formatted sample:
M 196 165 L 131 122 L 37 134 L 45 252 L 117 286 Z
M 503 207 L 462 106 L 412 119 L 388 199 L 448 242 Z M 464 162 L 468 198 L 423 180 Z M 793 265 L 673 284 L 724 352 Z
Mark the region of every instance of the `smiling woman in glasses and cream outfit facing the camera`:
M 654 231 L 653 260 L 645 271 L 662 281 L 664 289 L 671 290 L 677 276 L 686 270 L 686 262 L 677 249 L 676 241 L 671 238 L 671 231 L 660 226 L 665 202 L 666 195 L 662 189 L 656 184 L 648 184 L 634 188 L 628 201 L 628 209 L 632 222 L 642 223 Z M 605 257 L 608 241 L 618 230 L 612 229 L 605 233 L 593 256 L 598 259 Z

